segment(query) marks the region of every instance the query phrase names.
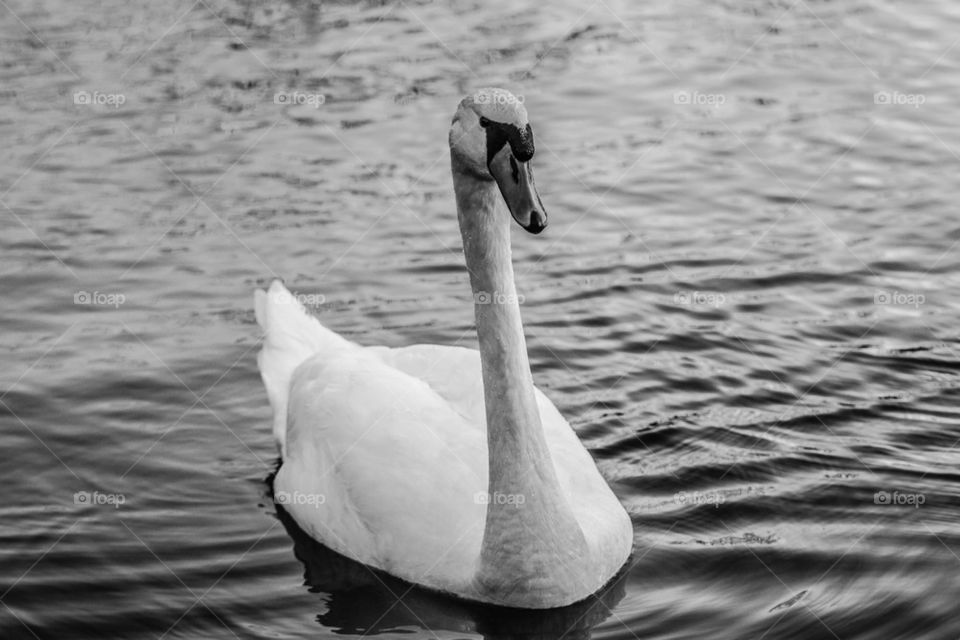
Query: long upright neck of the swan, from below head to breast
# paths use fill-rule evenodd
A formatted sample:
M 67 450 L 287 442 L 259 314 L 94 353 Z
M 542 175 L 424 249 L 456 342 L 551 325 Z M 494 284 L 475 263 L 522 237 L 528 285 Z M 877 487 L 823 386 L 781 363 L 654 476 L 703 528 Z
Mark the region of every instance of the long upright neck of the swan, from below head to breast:
M 487 514 L 478 588 L 550 597 L 586 542 L 564 496 L 537 408 L 510 252 L 511 218 L 492 180 L 453 162 L 464 256 L 474 294 L 487 417 Z M 555 594 L 554 594 L 555 595 Z

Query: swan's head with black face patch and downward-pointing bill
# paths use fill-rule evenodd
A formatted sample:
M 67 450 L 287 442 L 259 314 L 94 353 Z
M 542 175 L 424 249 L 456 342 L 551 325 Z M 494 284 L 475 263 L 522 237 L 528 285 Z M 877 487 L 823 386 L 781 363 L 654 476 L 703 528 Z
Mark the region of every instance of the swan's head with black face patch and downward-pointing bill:
M 533 129 L 523 101 L 504 89 L 478 89 L 460 101 L 450 127 L 454 166 L 480 181 L 496 181 L 510 215 L 530 233 L 547 226 L 533 182 Z

